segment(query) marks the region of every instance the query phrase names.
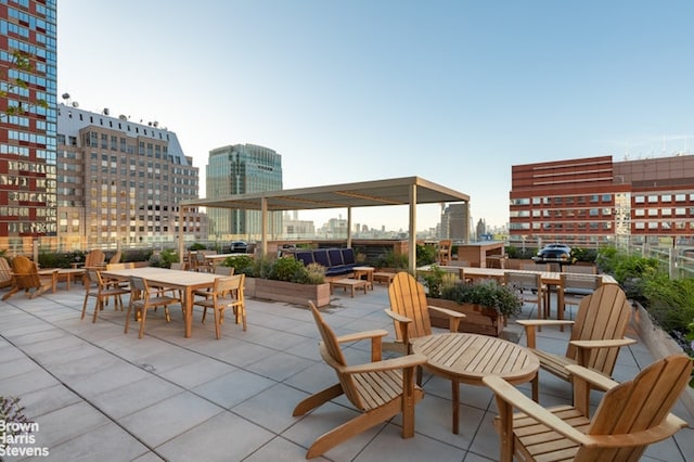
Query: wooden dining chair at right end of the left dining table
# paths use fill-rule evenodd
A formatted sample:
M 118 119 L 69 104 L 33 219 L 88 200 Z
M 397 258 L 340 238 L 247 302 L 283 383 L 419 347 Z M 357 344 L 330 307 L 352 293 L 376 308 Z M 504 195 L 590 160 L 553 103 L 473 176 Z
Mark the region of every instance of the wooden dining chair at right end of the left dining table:
M 221 277 L 215 279 L 209 297 L 193 301 L 193 305 L 203 307 L 203 322 L 207 316 L 207 309 L 215 312 L 215 336 L 221 336 L 221 323 L 224 320 L 224 310 L 231 309 L 234 313 L 236 324 L 241 323 L 246 330 L 246 301 L 243 296 L 245 274 Z

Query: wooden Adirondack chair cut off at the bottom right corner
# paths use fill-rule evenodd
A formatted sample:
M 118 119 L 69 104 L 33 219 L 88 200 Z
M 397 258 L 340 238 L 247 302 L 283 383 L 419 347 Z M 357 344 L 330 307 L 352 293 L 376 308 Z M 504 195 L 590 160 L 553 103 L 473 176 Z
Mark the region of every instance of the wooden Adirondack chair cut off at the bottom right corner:
M 687 426 L 670 413 L 691 377 L 692 360 L 685 355 L 656 361 L 622 384 L 580 365 L 568 369 L 574 406 L 547 409 L 501 377 L 484 378 L 497 396 L 502 462 L 514 455 L 524 461 L 638 461 L 648 445 Z M 606 390 L 592 419 L 590 385 Z M 520 412 L 514 414 L 514 408 Z

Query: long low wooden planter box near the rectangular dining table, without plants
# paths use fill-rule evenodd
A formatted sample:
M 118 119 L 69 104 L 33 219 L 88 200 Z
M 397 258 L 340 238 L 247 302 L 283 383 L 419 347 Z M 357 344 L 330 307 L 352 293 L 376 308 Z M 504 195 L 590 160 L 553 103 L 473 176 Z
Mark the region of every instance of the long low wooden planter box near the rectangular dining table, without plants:
M 308 306 L 312 300 L 317 307 L 330 305 L 330 284 L 297 284 L 295 282 L 272 281 L 269 279 L 246 278 L 245 293 L 249 297 L 274 301 L 286 301 Z

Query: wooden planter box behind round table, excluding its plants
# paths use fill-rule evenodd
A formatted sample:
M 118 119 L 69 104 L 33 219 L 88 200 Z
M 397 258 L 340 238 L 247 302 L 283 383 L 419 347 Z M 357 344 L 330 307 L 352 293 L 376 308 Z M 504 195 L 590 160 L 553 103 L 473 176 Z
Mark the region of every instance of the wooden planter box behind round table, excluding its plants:
M 459 332 L 470 332 L 473 334 L 484 334 L 498 337 L 504 328 L 503 316 L 493 308 L 483 307 L 480 305 L 459 304 L 452 300 L 444 300 L 441 298 L 426 298 L 426 303 L 434 307 L 450 309 L 465 313 L 465 318 L 460 321 Z M 449 328 L 448 318 L 429 311 L 432 325 L 436 328 Z

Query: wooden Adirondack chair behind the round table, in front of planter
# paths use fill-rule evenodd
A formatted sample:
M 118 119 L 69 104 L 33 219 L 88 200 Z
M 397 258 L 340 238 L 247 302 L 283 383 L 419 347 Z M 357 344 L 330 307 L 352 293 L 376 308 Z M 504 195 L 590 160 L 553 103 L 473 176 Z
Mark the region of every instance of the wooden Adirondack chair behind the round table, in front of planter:
M 393 278 L 388 285 L 388 298 L 390 309 L 385 312 L 393 319 L 396 338 L 402 343 L 408 355 L 412 352 L 411 343 L 414 338 L 432 335 L 429 310 L 447 317 L 451 332 L 458 332 L 460 320 L 465 318 L 462 312 L 428 306 L 424 286 L 406 271 Z

